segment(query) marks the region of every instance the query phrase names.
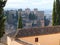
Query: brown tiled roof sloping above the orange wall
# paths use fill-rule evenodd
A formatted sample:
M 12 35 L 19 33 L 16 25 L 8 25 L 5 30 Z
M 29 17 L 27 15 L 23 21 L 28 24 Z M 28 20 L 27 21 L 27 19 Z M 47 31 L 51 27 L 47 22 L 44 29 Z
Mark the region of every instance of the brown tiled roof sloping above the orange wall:
M 14 33 L 15 32 L 13 32 L 13 35 Z M 60 26 L 22 29 L 18 31 L 16 38 L 37 36 L 37 35 L 47 35 L 47 34 L 54 34 L 54 33 L 60 33 Z M 11 34 L 9 35 L 12 37 Z

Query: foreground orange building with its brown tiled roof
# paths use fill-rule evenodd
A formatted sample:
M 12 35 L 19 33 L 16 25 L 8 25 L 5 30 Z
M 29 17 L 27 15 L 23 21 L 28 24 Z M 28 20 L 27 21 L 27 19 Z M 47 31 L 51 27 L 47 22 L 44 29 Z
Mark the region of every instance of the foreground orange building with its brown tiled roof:
M 60 26 L 28 28 L 12 32 L 7 36 L 7 44 L 60 45 Z

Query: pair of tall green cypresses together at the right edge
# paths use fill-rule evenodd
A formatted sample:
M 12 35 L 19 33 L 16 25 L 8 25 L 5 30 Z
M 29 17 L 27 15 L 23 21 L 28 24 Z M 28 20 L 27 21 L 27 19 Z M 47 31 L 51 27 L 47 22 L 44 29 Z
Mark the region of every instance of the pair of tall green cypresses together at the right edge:
M 60 2 L 59 0 L 54 1 L 53 14 L 52 14 L 52 25 L 60 25 Z

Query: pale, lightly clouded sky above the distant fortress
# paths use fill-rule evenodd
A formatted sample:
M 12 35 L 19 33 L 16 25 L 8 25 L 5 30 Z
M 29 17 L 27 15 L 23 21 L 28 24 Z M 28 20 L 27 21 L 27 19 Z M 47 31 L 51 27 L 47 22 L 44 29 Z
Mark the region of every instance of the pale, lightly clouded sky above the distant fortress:
M 54 0 L 8 0 L 4 9 L 34 9 L 52 10 Z

